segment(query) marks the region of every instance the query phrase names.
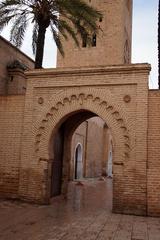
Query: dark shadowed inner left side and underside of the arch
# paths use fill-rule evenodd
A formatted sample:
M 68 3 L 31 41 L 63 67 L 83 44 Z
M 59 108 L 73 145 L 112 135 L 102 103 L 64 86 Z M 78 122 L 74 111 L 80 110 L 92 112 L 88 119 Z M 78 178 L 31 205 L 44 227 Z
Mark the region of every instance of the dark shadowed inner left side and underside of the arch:
M 75 129 L 87 119 L 96 116 L 89 111 L 78 111 L 67 116 L 54 134 L 54 161 L 51 168 L 51 197 L 58 196 L 62 193 L 62 178 L 63 178 L 63 162 L 64 151 L 71 141 Z M 70 147 L 70 146 L 69 146 Z M 68 151 L 65 151 L 69 154 Z

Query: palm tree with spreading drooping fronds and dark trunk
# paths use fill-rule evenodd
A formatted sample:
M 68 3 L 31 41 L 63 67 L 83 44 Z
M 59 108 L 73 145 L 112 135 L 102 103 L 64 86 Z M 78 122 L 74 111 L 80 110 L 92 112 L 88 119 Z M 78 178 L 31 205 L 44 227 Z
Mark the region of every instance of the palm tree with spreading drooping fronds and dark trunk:
M 35 68 L 42 68 L 47 28 L 64 56 L 62 37 L 72 37 L 77 46 L 84 36 L 90 42 L 90 36 L 98 32 L 97 20 L 101 17 L 84 0 L 2 0 L 0 3 L 0 30 L 12 22 L 10 41 L 16 47 L 21 47 L 27 28 L 33 24 Z

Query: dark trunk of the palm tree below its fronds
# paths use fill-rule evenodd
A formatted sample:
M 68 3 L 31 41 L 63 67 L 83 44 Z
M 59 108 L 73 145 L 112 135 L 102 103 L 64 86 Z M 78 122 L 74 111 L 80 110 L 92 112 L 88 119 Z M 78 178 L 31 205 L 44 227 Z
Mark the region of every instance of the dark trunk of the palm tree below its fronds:
M 46 26 L 39 24 L 35 68 L 42 68 Z

